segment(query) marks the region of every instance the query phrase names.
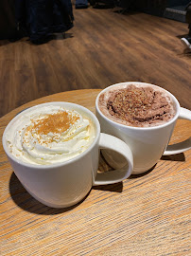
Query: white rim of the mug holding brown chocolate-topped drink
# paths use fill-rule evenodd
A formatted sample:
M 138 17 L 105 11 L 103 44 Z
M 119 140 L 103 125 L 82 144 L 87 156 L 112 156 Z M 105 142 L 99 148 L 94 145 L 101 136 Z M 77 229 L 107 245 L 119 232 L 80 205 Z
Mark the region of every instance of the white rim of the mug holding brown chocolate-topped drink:
M 112 87 L 115 87 L 115 86 L 120 86 L 120 85 L 129 85 L 129 84 L 145 84 L 145 85 L 148 85 L 148 86 L 154 86 L 154 87 L 157 87 L 159 88 L 160 90 L 162 91 L 165 91 L 165 93 L 167 93 L 170 98 L 172 99 L 172 101 L 176 104 L 176 114 L 175 116 L 168 120 L 167 122 L 163 123 L 163 124 L 159 124 L 159 125 L 156 125 L 156 126 L 148 126 L 148 127 L 138 127 L 138 126 L 130 126 L 130 125 L 126 125 L 126 124 L 123 124 L 123 123 L 119 123 L 119 122 L 116 122 L 112 119 L 109 119 L 108 117 L 106 117 L 99 109 L 99 106 L 98 106 L 98 101 L 99 101 L 99 97 L 106 91 L 110 90 Z M 148 82 L 118 82 L 118 83 L 114 83 L 108 87 L 106 87 L 105 89 L 101 90 L 99 92 L 99 94 L 97 95 L 96 97 L 96 111 L 99 113 L 99 115 L 103 118 L 103 119 L 107 119 L 109 122 L 115 124 L 115 125 L 118 125 L 119 127 L 128 127 L 129 129 L 131 130 L 141 130 L 141 131 L 148 131 L 148 130 L 155 130 L 155 129 L 159 129 L 159 128 L 164 128 L 168 125 L 170 125 L 172 122 L 174 122 L 176 119 L 178 119 L 179 117 L 179 114 L 180 114 L 180 103 L 179 101 L 176 99 L 176 97 L 171 94 L 169 91 L 165 90 L 163 87 L 160 87 L 156 84 L 153 84 L 153 83 L 148 83 Z

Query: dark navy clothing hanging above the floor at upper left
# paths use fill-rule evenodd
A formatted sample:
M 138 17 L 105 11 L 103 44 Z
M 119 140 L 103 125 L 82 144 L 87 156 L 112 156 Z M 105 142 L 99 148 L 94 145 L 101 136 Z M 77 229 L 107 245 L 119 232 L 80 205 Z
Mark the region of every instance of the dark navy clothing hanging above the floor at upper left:
M 52 33 L 73 27 L 70 0 L 15 0 L 15 12 L 20 34 L 33 43 L 43 43 Z

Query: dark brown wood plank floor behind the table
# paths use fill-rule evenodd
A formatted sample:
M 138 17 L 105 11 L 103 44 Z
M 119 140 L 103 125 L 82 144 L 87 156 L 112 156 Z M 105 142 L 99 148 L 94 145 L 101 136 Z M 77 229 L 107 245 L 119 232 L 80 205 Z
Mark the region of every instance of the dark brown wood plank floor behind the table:
M 130 81 L 158 84 L 191 108 L 191 54 L 180 40 L 186 24 L 113 9 L 74 14 L 75 27 L 47 44 L 0 41 L 0 117 L 54 93 Z

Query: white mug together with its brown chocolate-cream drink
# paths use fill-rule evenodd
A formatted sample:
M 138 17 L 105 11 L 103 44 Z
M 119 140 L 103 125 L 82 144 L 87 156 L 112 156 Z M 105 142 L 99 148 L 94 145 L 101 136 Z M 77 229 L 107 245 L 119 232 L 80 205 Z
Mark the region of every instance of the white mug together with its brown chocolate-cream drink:
M 101 131 L 124 140 L 132 151 L 132 174 L 152 168 L 162 155 L 182 153 L 191 148 L 190 138 L 177 149 L 167 144 L 177 119 L 191 120 L 191 111 L 180 107 L 165 89 L 146 82 L 121 82 L 102 90 L 96 98 L 96 117 Z M 102 151 L 106 160 L 121 168 L 123 157 Z

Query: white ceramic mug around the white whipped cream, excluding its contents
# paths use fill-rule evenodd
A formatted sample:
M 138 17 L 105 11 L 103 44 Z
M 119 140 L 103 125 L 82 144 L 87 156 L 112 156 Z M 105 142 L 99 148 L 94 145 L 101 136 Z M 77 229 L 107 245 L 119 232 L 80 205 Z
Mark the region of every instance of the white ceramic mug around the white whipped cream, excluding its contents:
M 57 105 L 72 109 L 91 120 L 96 137 L 92 144 L 80 155 L 51 165 L 25 163 L 10 154 L 6 134 L 11 125 L 22 115 L 44 105 Z M 53 208 L 65 208 L 77 204 L 91 190 L 92 186 L 113 184 L 128 178 L 132 172 L 133 159 L 129 146 L 117 137 L 100 133 L 96 116 L 87 108 L 69 102 L 48 102 L 26 109 L 12 119 L 3 135 L 3 147 L 9 162 L 26 191 L 44 205 Z M 121 170 L 97 174 L 99 149 L 113 149 L 123 155 L 128 164 Z

